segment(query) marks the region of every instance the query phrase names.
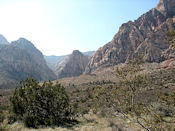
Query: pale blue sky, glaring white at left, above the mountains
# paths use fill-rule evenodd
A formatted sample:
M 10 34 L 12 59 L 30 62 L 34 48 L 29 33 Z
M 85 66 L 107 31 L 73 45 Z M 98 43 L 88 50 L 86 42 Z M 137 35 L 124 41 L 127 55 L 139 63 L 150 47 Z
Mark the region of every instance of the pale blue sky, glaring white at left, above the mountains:
M 0 0 L 0 34 L 31 41 L 44 55 L 94 51 L 159 0 Z

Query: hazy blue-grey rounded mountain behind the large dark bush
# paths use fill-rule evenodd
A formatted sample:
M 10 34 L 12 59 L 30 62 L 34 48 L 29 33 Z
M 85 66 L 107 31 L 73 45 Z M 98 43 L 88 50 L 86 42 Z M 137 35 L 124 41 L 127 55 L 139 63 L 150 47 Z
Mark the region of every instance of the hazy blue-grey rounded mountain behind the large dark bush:
M 34 77 L 55 80 L 42 53 L 28 40 L 20 38 L 0 48 L 0 88 L 14 88 L 18 81 Z

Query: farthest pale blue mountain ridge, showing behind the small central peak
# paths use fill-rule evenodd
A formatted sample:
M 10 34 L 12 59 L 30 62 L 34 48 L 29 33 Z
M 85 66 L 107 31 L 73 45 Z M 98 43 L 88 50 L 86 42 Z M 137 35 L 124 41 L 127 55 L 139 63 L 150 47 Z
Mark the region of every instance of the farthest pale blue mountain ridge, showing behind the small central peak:
M 89 57 L 92 56 L 92 54 L 94 53 L 94 51 L 87 51 L 87 52 L 82 52 L 84 55 L 87 55 Z M 70 54 L 69 54 L 70 55 Z M 49 66 L 50 69 L 52 69 L 54 72 L 56 71 L 56 69 L 59 67 L 60 63 L 64 63 L 64 61 L 67 59 L 67 57 L 69 55 L 62 55 L 62 56 L 44 56 L 47 65 Z

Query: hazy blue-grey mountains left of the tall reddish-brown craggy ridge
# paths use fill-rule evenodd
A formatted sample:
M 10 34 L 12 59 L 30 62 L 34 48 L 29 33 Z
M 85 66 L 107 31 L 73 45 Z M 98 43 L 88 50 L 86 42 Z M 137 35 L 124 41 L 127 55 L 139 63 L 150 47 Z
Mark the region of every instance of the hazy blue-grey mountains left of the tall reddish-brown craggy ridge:
M 44 81 L 81 75 L 93 53 L 89 51 L 83 55 L 74 51 L 65 56 L 43 56 L 25 38 L 9 43 L 0 35 L 0 89 L 15 88 L 20 80 L 28 77 Z

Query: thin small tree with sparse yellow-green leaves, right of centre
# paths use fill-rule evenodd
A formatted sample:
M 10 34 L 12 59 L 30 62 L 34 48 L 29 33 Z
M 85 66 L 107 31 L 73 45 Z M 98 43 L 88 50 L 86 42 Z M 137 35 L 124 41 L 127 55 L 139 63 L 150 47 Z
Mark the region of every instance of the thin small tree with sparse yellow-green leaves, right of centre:
M 136 92 L 146 84 L 146 75 L 139 74 L 139 71 L 141 71 L 140 65 L 143 62 L 142 56 L 139 55 L 137 58 L 129 61 L 126 66 L 116 68 L 116 75 L 120 79 L 120 83 L 129 91 L 127 96 L 131 97 L 131 102 L 129 102 L 131 103 L 130 111 L 135 110 Z

